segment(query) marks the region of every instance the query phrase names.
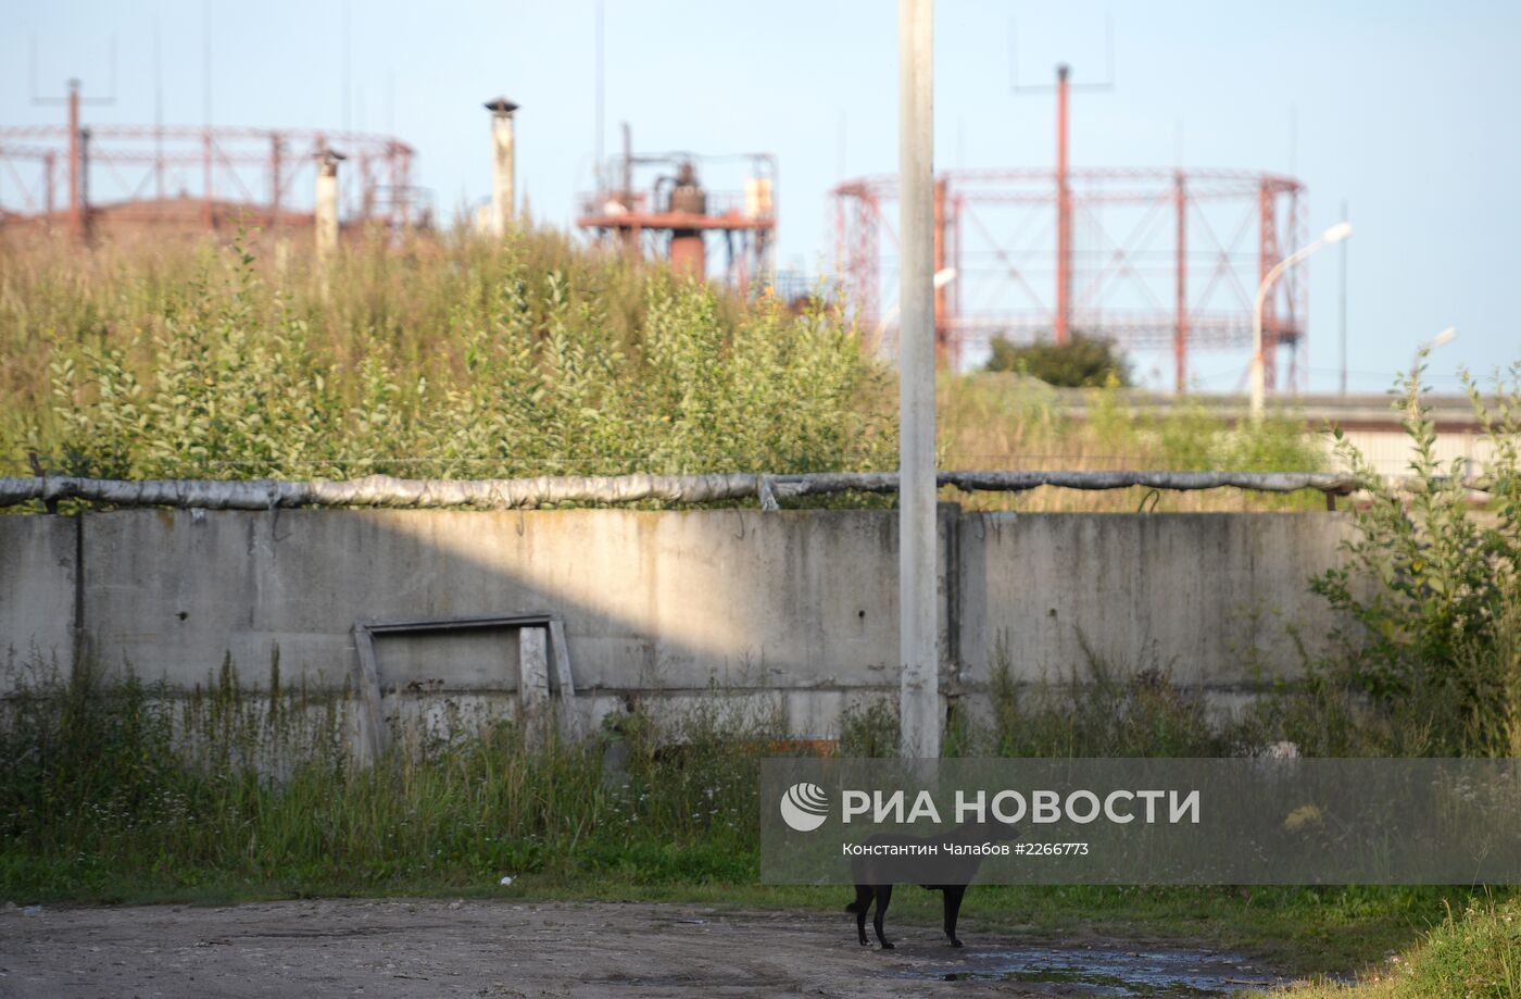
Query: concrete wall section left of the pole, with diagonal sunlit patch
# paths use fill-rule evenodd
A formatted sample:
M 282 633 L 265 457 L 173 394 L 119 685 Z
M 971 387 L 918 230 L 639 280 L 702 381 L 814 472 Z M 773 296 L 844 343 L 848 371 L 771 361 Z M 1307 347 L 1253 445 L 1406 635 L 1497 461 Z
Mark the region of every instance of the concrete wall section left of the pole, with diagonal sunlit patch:
M 105 664 L 184 687 L 227 655 L 265 684 L 275 646 L 287 682 L 341 687 L 359 620 L 520 611 L 564 618 L 592 723 L 627 694 L 716 684 L 823 732 L 896 682 L 891 512 L 129 510 L 0 518 L 12 550 L 32 571 L 5 583 L 26 598 L 0 647 L 67 662 L 82 623 Z M 377 662 L 388 693 L 516 693 L 517 632 L 388 637 Z

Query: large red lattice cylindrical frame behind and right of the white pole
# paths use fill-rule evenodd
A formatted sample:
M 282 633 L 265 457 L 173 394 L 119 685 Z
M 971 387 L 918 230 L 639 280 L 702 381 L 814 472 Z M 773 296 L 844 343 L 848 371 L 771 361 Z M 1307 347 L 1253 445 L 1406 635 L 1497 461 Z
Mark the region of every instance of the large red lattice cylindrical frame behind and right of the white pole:
M 1250 347 L 1258 283 L 1305 242 L 1305 187 L 1255 171 L 1068 163 L 1068 72 L 1057 69 L 1056 169 L 943 171 L 935 177 L 935 340 L 960 367 L 995 337 L 1113 338 L 1171 349 L 1179 391 L 1189 353 Z M 838 184 L 837 270 L 862 329 L 891 347 L 897 177 Z M 1288 384 L 1305 373 L 1308 285 L 1290 270 L 1262 311 L 1267 384 L 1279 347 Z

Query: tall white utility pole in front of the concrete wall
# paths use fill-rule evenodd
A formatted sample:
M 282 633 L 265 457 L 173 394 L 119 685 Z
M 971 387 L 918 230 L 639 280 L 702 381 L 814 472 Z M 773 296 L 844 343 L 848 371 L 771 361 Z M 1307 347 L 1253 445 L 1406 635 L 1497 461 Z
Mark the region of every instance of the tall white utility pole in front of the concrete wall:
M 903 758 L 940 755 L 934 169 L 934 0 L 899 0 L 897 603 Z

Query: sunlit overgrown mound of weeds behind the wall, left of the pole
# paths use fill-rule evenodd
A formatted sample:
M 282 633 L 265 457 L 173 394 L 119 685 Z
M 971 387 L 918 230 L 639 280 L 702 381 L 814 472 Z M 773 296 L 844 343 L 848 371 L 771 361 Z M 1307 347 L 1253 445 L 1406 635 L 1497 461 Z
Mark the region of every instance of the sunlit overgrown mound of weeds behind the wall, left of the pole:
M 0 274 L 12 474 L 27 451 L 120 478 L 891 464 L 882 375 L 837 314 L 742 305 L 554 235 L 373 247 L 327 294 L 242 245 L 12 247 Z

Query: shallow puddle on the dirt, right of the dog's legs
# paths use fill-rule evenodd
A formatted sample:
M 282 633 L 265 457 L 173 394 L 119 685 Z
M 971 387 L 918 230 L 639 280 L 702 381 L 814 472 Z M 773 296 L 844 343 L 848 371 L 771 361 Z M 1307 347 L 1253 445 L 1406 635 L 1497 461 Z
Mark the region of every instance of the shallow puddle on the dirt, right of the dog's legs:
M 1227 996 L 1290 979 L 1237 953 L 1016 947 L 916 962 L 902 978 L 1019 982 L 1051 996 Z

